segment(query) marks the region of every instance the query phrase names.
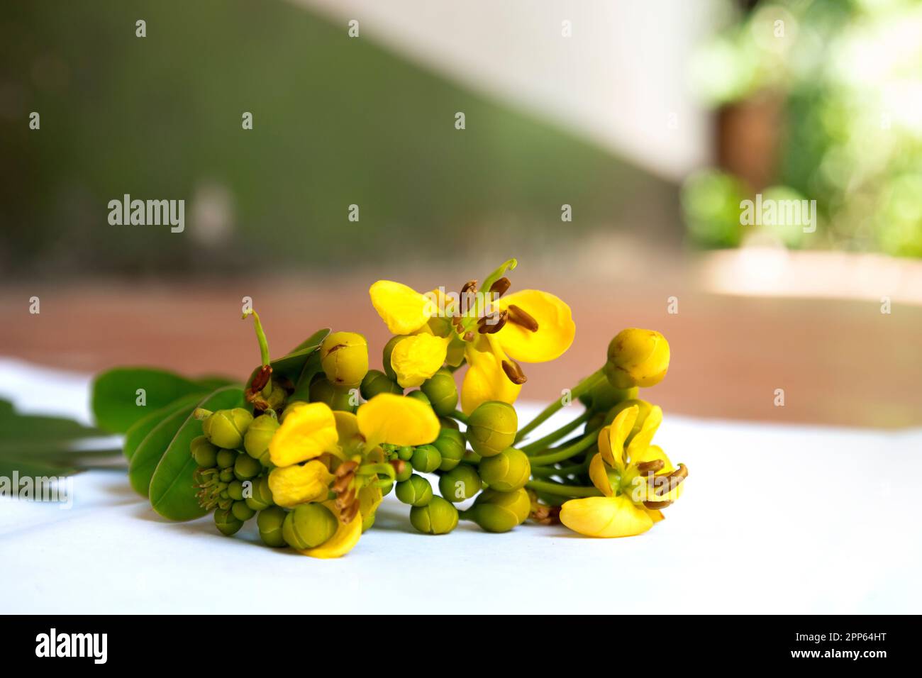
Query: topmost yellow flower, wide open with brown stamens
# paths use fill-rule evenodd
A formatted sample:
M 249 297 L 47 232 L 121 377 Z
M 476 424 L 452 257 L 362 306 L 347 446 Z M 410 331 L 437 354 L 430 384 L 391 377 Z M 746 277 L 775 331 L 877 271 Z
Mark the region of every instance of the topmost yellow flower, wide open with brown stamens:
M 522 290 L 502 296 L 510 259 L 484 280 L 471 280 L 461 294 L 422 294 L 399 282 L 378 280 L 369 294 L 388 329 L 407 335 L 391 353 L 401 387 L 420 386 L 447 362 L 467 360 L 461 407 L 467 413 L 486 400 L 513 403 L 526 376 L 518 362 L 544 363 L 570 348 L 576 326 L 570 307 L 546 291 Z

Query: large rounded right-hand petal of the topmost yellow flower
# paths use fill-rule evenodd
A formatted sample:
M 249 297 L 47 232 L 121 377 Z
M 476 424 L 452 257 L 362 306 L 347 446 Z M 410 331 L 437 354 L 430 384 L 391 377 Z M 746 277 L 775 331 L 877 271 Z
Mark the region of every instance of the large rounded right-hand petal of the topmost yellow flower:
M 538 323 L 532 331 L 510 320 L 496 333 L 502 350 L 523 363 L 544 363 L 559 358 L 576 334 L 570 306 L 546 291 L 522 290 L 502 297 L 497 305 L 521 308 Z M 514 311 L 510 311 L 514 315 Z

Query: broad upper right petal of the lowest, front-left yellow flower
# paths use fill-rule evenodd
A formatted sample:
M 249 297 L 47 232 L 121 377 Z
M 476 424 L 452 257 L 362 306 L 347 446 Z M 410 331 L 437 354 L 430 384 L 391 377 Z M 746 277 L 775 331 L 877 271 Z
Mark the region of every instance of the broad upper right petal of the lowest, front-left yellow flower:
M 425 445 L 439 435 L 439 419 L 431 407 L 416 398 L 382 393 L 359 408 L 359 430 L 366 446 Z

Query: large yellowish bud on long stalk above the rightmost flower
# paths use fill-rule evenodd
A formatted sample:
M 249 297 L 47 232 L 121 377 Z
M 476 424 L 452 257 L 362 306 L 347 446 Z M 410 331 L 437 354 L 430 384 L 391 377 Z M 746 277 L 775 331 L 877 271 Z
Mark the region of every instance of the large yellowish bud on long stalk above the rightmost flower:
M 609 343 L 604 371 L 615 388 L 656 386 L 668 368 L 669 343 L 652 329 L 622 329 Z

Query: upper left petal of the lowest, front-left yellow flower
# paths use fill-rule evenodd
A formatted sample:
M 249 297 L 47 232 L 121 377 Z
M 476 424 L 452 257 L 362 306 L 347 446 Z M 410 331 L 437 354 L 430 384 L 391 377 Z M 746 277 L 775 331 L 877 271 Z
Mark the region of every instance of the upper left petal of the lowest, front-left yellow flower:
M 322 402 L 304 403 L 285 415 L 269 442 L 269 458 L 276 466 L 297 464 L 336 452 L 338 437 L 333 410 Z

